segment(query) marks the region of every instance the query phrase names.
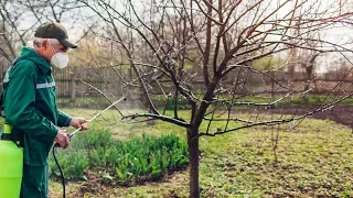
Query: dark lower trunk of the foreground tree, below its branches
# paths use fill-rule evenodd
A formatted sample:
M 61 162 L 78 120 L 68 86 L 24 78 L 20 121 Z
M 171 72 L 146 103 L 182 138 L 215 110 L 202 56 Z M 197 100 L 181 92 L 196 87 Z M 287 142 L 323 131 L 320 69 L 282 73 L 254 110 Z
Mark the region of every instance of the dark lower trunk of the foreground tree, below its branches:
M 190 168 L 190 198 L 200 197 L 199 187 L 199 130 L 188 129 L 189 168 Z

